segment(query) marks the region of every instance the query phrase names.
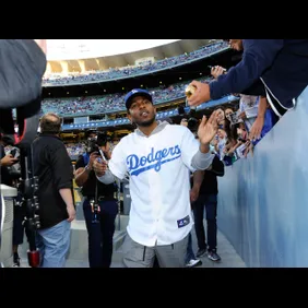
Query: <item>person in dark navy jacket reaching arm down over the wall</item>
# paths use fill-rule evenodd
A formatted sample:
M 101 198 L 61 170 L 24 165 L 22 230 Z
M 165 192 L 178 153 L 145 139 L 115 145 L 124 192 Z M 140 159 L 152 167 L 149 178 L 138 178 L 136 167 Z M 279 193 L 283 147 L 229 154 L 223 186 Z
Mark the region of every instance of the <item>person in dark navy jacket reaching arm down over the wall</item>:
M 266 96 L 277 116 L 294 108 L 308 85 L 308 39 L 229 39 L 229 44 L 244 50 L 241 61 L 210 84 L 191 82 L 197 91 L 189 105 L 242 93 Z

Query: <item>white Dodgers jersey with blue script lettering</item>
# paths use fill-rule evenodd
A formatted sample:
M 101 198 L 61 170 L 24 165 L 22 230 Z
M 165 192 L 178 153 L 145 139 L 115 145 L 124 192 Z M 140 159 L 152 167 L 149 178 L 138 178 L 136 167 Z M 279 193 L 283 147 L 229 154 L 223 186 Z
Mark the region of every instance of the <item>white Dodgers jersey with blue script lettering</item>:
M 162 126 L 162 127 L 161 127 Z M 182 126 L 161 123 L 150 137 L 135 131 L 122 138 L 109 161 L 111 173 L 130 174 L 130 237 L 144 246 L 185 238 L 193 221 L 188 170 L 200 143 Z

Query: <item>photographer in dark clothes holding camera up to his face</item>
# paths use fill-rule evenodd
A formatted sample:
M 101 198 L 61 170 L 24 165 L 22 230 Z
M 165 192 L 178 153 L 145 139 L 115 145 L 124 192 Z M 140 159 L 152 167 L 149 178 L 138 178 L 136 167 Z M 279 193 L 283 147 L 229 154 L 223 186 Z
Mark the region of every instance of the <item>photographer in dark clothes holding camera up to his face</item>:
M 99 157 L 99 150 L 107 159 L 110 158 L 110 147 L 107 135 L 94 134 L 88 138 L 87 153 L 81 156 L 75 165 L 75 183 L 82 187 L 83 213 L 88 233 L 88 263 L 90 268 L 109 268 L 111 264 L 115 220 L 118 212 L 114 197 L 116 183 L 104 185 L 96 179 L 93 163 Z M 99 223 L 93 222 L 91 203 L 99 205 Z

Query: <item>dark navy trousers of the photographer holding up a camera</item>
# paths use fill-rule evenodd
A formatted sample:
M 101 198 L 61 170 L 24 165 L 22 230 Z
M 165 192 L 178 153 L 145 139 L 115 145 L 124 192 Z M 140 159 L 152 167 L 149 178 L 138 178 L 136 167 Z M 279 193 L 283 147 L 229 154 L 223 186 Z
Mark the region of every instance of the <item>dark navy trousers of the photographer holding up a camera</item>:
M 88 235 L 88 263 L 90 268 L 110 268 L 115 221 L 118 213 L 116 200 L 99 201 L 100 222 L 93 223 L 93 212 L 86 198 L 83 202 L 83 213 Z

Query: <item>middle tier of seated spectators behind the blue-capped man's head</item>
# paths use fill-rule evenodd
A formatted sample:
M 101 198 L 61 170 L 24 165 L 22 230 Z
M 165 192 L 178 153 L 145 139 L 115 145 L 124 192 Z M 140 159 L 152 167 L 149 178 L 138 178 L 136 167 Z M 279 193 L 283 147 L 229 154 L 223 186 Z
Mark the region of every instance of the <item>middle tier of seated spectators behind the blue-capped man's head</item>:
M 202 78 L 200 81 L 209 82 L 211 78 Z M 185 96 L 185 87 L 188 82 L 182 82 L 167 87 L 150 90 L 154 104 L 171 102 Z M 99 96 L 85 96 L 74 98 L 46 98 L 42 104 L 43 112 L 56 112 L 61 117 L 90 116 L 126 110 L 125 94 L 107 94 Z

